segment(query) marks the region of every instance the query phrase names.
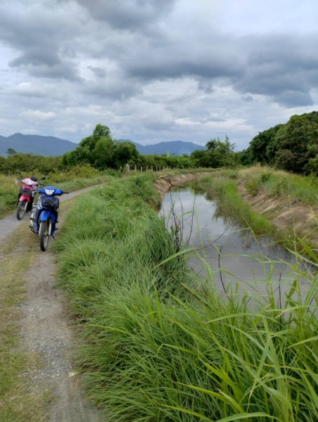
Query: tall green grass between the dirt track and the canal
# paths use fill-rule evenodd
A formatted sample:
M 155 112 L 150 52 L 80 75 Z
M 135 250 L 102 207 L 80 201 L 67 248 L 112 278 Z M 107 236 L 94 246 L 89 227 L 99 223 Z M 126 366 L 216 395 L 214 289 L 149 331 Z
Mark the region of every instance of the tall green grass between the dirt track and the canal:
M 195 290 L 152 184 L 142 174 L 78 198 L 56 242 L 90 397 L 116 422 L 317 420 L 317 278 L 302 274 L 305 298 L 296 278 L 284 309 L 220 298 L 212 271 Z

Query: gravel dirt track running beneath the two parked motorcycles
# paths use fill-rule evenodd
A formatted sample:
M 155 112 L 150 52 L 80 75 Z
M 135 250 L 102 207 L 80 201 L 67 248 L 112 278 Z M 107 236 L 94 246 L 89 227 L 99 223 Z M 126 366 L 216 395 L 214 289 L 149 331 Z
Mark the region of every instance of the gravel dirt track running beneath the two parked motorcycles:
M 89 189 L 65 195 L 61 197 L 61 201 Z M 61 210 L 59 227 L 62 226 L 63 219 Z M 6 242 L 6 238 L 22 224 L 28 225 L 29 221 L 30 213 L 20 221 L 15 215 L 0 220 L 0 255 L 1 245 Z M 65 311 L 67 308 L 63 305 L 61 292 L 55 287 L 55 255 L 50 246 L 46 252 L 39 249 L 37 259 L 25 274 L 25 300 L 19 305 L 23 315 L 20 321 L 20 347 L 26 352 L 39 352 L 42 366 L 34 373 L 24 375 L 32 379 L 34 390 L 49 390 L 53 394 L 47 422 L 105 421 L 101 412 L 85 399 L 80 378 L 72 368 L 72 324 Z

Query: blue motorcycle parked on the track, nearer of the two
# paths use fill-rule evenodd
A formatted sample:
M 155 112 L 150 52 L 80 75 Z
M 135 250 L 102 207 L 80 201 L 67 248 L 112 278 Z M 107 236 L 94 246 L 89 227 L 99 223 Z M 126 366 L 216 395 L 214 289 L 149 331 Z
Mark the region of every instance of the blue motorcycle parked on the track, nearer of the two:
M 60 200 L 54 198 L 61 196 L 61 189 L 54 186 L 45 186 L 37 191 L 41 196 L 37 201 L 37 210 L 32 212 L 30 217 L 30 229 L 39 235 L 40 248 L 45 251 L 49 243 L 49 237 L 53 236 L 56 231 L 56 223 L 58 222 L 58 211 L 60 209 Z

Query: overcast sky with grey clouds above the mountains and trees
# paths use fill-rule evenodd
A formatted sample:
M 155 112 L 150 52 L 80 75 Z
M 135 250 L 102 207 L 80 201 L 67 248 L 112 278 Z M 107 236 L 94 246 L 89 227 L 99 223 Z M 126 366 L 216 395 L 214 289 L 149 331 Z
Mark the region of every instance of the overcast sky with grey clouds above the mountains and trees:
M 236 151 L 318 110 L 317 0 L 0 0 L 0 135 Z

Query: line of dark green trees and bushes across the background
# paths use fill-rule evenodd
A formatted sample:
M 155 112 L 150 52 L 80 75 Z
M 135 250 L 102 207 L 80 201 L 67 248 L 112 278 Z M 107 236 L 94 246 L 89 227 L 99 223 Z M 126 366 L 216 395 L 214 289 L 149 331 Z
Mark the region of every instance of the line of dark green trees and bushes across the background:
M 91 166 L 96 170 L 124 170 L 131 168 L 198 168 L 239 167 L 260 163 L 276 169 L 298 174 L 318 176 L 318 112 L 293 115 L 286 124 L 259 132 L 246 150 L 235 152 L 235 143 L 225 136 L 210 139 L 205 150 L 193 151 L 190 155 L 174 156 L 141 155 L 134 143 L 116 141 L 110 129 L 97 124 L 94 132 L 82 139 L 75 150 L 61 157 L 15 153 L 7 151 L 8 157 L 0 156 L 0 172 L 9 174 L 17 168 L 43 174 L 70 170 L 76 166 Z

